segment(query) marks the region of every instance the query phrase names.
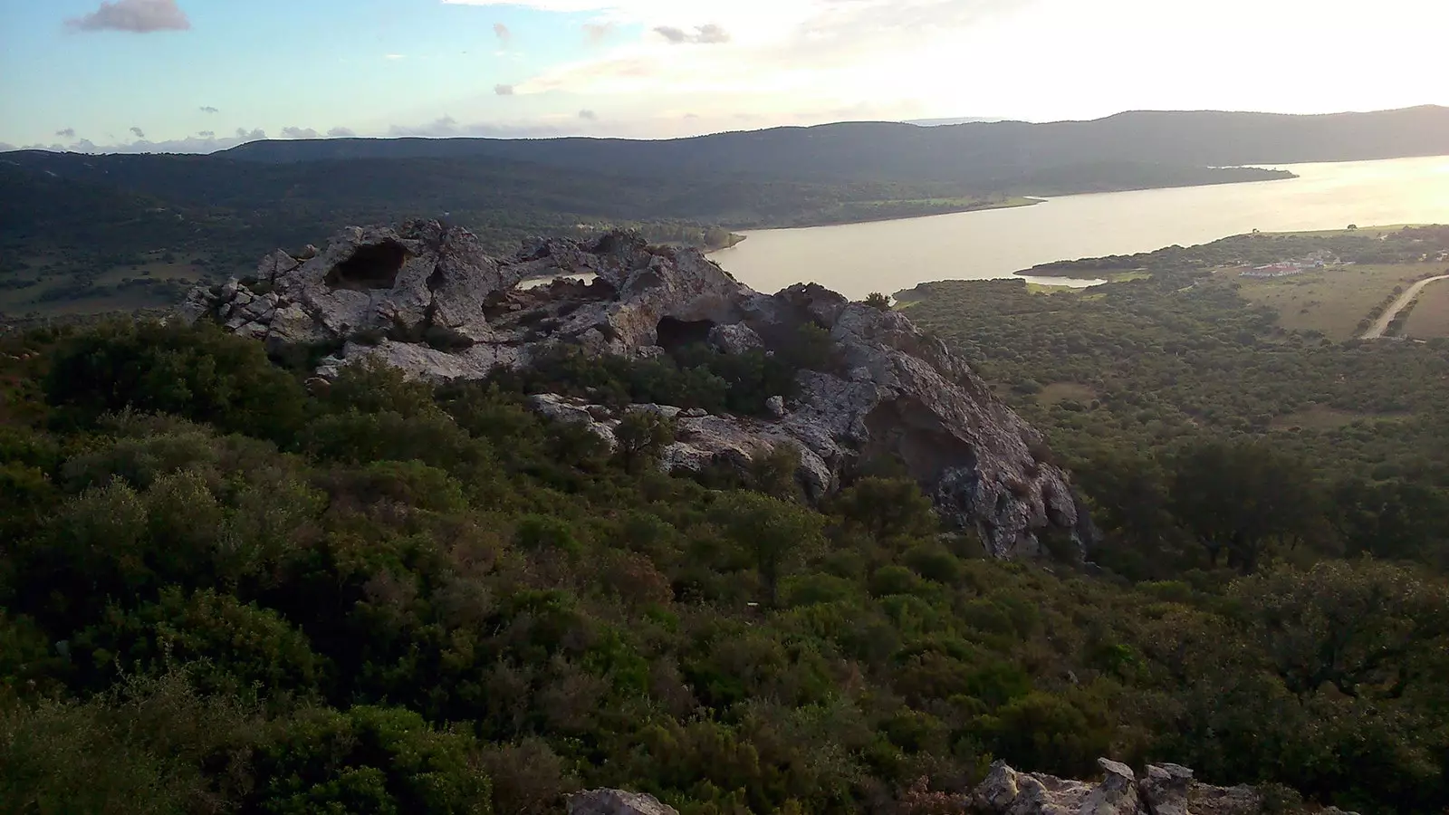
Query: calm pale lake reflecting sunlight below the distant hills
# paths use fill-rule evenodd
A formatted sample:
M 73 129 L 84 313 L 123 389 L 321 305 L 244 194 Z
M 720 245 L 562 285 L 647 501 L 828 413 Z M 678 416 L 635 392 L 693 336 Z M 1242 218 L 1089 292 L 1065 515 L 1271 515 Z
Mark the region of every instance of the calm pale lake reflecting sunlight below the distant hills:
M 1011 277 L 1039 262 L 1187 247 L 1253 229 L 1449 223 L 1449 157 L 1285 167 L 1300 177 L 748 232 L 743 244 L 711 257 L 761 291 L 814 281 L 859 299 L 927 280 Z

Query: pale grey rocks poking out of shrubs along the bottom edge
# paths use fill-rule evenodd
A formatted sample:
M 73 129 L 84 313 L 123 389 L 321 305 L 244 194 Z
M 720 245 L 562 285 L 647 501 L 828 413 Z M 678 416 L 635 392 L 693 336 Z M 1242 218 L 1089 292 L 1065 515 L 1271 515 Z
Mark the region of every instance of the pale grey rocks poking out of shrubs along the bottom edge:
M 1264 795 L 1250 786 L 1211 786 L 1193 780 L 1193 770 L 1178 764 L 1148 766 L 1143 777 L 1132 767 L 1098 758 L 1101 782 L 1058 779 L 1046 773 L 1022 773 L 1006 761 L 991 764 L 991 773 L 969 795 L 951 796 L 911 790 L 901 812 L 943 815 L 1262 815 L 1269 811 Z M 1307 811 L 1298 811 L 1307 812 Z M 678 815 L 651 795 L 598 789 L 568 798 L 569 815 Z M 1319 815 L 1356 815 L 1336 808 Z

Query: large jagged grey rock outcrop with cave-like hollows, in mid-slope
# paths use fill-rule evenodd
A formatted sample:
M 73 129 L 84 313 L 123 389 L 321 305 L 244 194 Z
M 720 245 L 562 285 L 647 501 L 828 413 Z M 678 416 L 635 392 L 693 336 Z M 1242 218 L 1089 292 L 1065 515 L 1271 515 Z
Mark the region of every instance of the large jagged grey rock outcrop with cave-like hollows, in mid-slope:
M 761 294 L 697 249 L 651 247 L 627 232 L 493 258 L 468 231 L 435 220 L 348 228 L 325 249 L 277 251 L 254 277 L 196 289 L 181 313 L 274 352 L 329 351 L 322 377 L 377 360 L 429 380 L 484 378 L 561 347 L 627 358 L 690 344 L 787 352 L 813 325 L 833 342 L 830 363 L 800 370 L 794 392 L 768 399 L 762 416 L 667 405 L 611 410 L 558 394 L 536 394 L 532 405 L 610 442 L 629 410 L 667 415 L 677 432 L 661 466 L 671 471 L 748 466 L 791 445 L 813 497 L 836 489 L 853 463 L 893 454 L 942 516 L 977 529 L 995 557 L 1033 557 L 1052 539 L 1081 555 L 1091 538 L 1040 432 L 904 315 L 816 284 Z

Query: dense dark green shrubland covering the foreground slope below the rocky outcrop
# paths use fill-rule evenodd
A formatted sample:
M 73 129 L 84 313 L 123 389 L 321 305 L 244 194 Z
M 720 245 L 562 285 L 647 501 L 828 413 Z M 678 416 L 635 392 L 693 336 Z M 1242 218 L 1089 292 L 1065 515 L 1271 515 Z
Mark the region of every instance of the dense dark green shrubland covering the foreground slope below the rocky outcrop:
M 0 800 L 23 812 L 532 814 L 610 785 L 887 814 L 993 758 L 1103 754 L 1449 803 L 1449 589 L 1362 492 L 1394 481 L 1340 502 L 1364 532 L 1339 558 L 1187 489 L 1245 458 L 1277 484 L 1278 458 L 1123 461 L 1093 497 L 1132 582 L 982 560 L 888 461 L 811 508 L 788 461 L 667 477 L 523 408 L 569 383 L 745 408 L 765 360 L 309 392 L 214 329 L 3 349 Z M 1201 539 L 1232 547 L 1214 567 Z

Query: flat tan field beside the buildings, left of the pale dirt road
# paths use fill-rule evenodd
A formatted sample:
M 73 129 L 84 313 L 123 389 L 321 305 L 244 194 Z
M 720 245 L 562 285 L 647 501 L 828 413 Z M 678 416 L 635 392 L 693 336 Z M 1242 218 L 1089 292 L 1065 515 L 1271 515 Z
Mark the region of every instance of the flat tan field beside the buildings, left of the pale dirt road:
M 1237 270 L 1219 273 L 1237 281 L 1245 299 L 1272 307 L 1279 325 L 1293 331 L 1320 331 L 1330 339 L 1350 339 L 1359 320 L 1398 286 L 1407 287 L 1443 264 L 1345 265 L 1291 277 L 1255 280 Z M 1423 306 L 1426 303 L 1421 303 Z

